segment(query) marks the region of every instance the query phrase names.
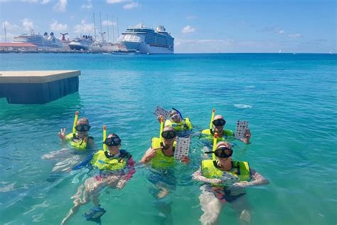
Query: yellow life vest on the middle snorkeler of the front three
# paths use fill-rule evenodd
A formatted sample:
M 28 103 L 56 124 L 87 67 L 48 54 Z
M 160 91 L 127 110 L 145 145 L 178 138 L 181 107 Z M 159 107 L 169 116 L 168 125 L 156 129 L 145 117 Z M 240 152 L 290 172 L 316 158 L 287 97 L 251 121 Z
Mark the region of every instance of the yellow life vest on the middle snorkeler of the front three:
M 151 138 L 151 148 L 163 146 L 158 137 Z M 173 149 L 176 148 L 176 142 L 173 143 Z M 151 164 L 154 169 L 169 169 L 175 164 L 174 157 L 164 155 L 162 150 L 157 150 L 156 157 L 151 159 Z

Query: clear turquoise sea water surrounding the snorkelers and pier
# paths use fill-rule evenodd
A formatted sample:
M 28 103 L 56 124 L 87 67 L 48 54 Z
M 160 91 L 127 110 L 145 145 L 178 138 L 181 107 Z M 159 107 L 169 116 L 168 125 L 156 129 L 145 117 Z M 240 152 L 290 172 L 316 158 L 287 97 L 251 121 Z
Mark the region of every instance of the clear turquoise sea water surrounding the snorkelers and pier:
M 80 90 L 46 105 L 8 105 L 0 99 L 0 224 L 59 224 L 87 170 L 48 182 L 58 161 L 41 155 L 60 150 L 60 127 L 73 114 L 89 118 L 97 146 L 102 125 L 117 132 L 137 161 L 159 133 L 156 105 L 178 108 L 197 130 L 207 128 L 212 108 L 226 127 L 249 120 L 252 145 L 237 142 L 233 157 L 269 179 L 247 188 L 252 224 L 337 223 L 336 55 L 191 54 L 117 56 L 98 54 L 1 54 L 0 70 L 81 70 Z M 178 167 L 171 193 L 174 224 L 199 224 L 199 183 L 191 182 L 202 146 L 193 140 L 189 166 Z M 70 150 L 71 152 L 71 150 Z M 106 189 L 102 224 L 159 224 L 146 169 L 120 190 Z M 82 206 L 70 221 L 89 224 Z M 221 224 L 237 224 L 230 204 Z

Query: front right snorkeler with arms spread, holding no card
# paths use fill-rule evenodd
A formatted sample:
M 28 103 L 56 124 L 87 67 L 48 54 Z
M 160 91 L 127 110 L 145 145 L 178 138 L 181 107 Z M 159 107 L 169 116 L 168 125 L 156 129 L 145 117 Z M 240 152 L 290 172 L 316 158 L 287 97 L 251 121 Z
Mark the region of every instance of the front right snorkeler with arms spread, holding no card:
M 215 224 L 223 205 L 230 202 L 242 223 L 250 224 L 249 205 L 245 201 L 245 187 L 269 184 L 261 174 L 250 168 L 248 162 L 232 159 L 232 146 L 228 142 L 218 142 L 214 159 L 201 162 L 193 179 L 205 184 L 200 187 L 200 206 L 203 215 L 201 224 Z

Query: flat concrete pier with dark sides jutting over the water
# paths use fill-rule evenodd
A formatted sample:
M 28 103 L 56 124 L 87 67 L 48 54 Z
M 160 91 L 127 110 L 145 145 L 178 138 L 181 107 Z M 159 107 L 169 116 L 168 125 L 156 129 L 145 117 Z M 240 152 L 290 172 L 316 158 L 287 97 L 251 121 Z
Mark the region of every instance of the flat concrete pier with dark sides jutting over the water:
M 0 98 L 45 104 L 78 91 L 80 70 L 0 71 Z

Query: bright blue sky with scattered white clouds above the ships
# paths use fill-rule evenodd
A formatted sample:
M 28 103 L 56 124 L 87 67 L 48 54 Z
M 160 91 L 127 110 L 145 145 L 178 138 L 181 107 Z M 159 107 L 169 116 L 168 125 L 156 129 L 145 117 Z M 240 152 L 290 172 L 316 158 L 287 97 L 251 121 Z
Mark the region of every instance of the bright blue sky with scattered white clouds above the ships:
M 166 27 L 176 53 L 336 53 L 337 1 L 0 0 L 0 41 L 19 33 L 53 31 L 93 36 L 93 16 L 112 41 L 128 26 Z M 106 36 L 107 38 L 107 36 Z

